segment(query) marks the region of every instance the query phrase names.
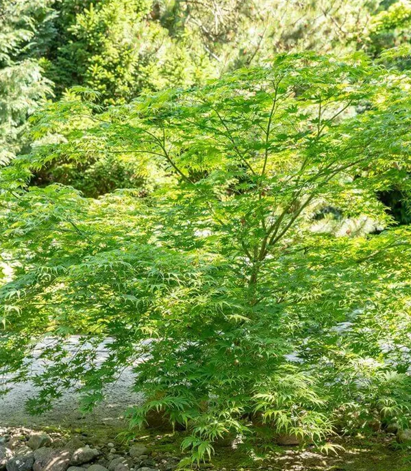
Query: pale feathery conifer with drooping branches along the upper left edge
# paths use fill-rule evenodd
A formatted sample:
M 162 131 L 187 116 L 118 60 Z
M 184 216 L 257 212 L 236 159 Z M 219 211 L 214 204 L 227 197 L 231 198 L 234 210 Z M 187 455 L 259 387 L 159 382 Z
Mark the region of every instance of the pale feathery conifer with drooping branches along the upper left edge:
M 51 92 L 37 60 L 47 42 L 50 5 L 49 0 L 0 4 L 0 165 L 26 144 L 27 116 Z

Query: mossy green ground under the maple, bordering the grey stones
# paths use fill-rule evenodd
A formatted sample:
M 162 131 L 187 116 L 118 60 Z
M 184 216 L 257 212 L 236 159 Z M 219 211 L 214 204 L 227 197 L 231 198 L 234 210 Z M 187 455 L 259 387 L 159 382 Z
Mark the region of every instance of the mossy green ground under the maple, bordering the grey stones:
M 43 428 L 59 431 L 66 437 L 77 435 L 88 444 L 115 444 L 117 453 L 125 453 L 132 441 L 146 444 L 154 458 L 183 458 L 180 444 L 185 434 L 142 430 L 125 431 L 121 427 L 84 427 L 82 429 Z M 338 455 L 323 455 L 310 447 L 283 447 L 255 442 L 232 446 L 216 446 L 211 463 L 200 469 L 216 471 L 411 471 L 411 452 L 397 446 L 393 435 L 376 433 L 369 436 L 345 437 L 335 441 L 343 446 Z M 195 467 L 196 468 L 196 467 Z

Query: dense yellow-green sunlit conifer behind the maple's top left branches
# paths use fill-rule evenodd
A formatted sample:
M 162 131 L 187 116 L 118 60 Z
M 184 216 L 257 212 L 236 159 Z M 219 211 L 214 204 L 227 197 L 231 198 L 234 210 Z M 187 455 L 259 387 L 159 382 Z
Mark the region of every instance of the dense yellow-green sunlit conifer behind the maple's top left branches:
M 144 88 L 187 86 L 212 74 L 203 51 L 153 21 L 151 0 L 65 0 L 56 8 L 59 34 L 47 74 L 59 96 L 84 85 L 99 91 L 105 104 L 121 103 Z

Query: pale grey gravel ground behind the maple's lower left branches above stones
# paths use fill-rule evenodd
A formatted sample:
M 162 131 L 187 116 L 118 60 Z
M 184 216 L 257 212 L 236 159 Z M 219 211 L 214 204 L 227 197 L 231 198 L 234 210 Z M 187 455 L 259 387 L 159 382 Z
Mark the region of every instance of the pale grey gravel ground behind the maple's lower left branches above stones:
M 70 350 L 76 348 L 78 338 L 71 340 Z M 39 346 L 38 351 L 41 351 Z M 105 346 L 101 344 L 99 357 L 105 356 Z M 44 368 L 38 359 L 34 369 L 41 371 Z M 82 415 L 79 412 L 78 396 L 74 391 L 67 391 L 52 411 L 41 416 L 30 416 L 25 411 L 25 401 L 34 396 L 36 388 L 31 383 L 14 385 L 12 391 L 6 396 L 0 396 L 0 425 L 3 426 L 60 426 L 82 427 L 88 426 L 116 426 L 121 423 L 121 416 L 130 405 L 141 402 L 142 395 L 130 390 L 133 382 L 131 370 L 124 370 L 115 384 L 105 390 L 106 398 L 92 413 Z

